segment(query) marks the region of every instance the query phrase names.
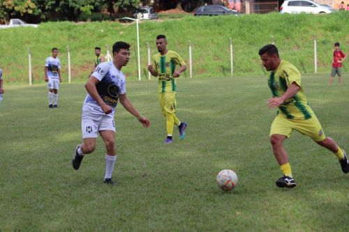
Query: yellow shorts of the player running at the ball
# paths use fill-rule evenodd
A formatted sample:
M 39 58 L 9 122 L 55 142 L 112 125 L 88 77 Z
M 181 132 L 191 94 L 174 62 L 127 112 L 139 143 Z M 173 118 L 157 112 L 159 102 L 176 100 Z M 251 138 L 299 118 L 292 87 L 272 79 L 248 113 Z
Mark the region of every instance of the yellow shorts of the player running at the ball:
M 326 139 L 321 124 L 315 114 L 309 119 L 288 119 L 279 114 L 272 123 L 270 136 L 272 134 L 283 134 L 286 137 L 290 137 L 293 130 L 297 130 L 297 132 L 311 137 L 313 141 Z

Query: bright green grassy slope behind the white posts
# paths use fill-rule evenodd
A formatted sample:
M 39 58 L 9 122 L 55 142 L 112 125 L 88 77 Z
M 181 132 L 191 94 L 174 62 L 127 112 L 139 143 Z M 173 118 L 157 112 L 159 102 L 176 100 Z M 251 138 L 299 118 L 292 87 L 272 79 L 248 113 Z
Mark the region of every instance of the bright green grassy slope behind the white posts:
M 103 32 L 102 32 L 103 30 Z M 184 17 L 164 22 L 147 21 L 140 24 L 140 54 L 142 78 L 147 77 L 147 44 L 156 52 L 154 38 L 159 33 L 168 36 L 169 49 L 174 49 L 188 61 L 188 40 L 193 44 L 195 77 L 230 75 L 229 38 L 233 39 L 236 75 L 260 75 L 258 49 L 274 36 L 283 59 L 295 63 L 302 72 L 313 72 L 313 35 L 318 36 L 318 71 L 329 72 L 334 42 L 348 52 L 349 13 L 331 15 L 244 15 L 242 17 Z M 66 46 L 72 55 L 73 82 L 85 79 L 92 68 L 94 47 L 112 45 L 116 40 L 130 42 L 132 59 L 126 74 L 137 78 L 135 24 L 117 22 L 50 22 L 38 29 L 17 28 L 0 31 L 0 67 L 6 82 L 27 82 L 27 47 L 31 47 L 35 82 L 42 82 L 43 64 L 50 49 L 61 50 L 64 79 L 67 79 Z M 348 71 L 344 68 L 344 71 Z M 188 71 L 186 72 L 188 77 Z

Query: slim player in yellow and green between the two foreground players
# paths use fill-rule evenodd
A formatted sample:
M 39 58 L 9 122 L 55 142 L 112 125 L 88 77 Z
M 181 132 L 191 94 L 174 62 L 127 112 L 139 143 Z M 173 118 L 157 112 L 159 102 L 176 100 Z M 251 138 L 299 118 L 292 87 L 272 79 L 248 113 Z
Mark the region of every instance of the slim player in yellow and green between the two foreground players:
M 167 49 L 168 42 L 164 35 L 156 36 L 156 47 L 158 54 L 154 56 L 152 65 L 148 65 L 151 75 L 158 77 L 158 97 L 160 101 L 161 111 L 166 118 L 168 137 L 165 144 L 171 144 L 173 126 L 177 125 L 179 130 L 179 139 L 183 140 L 186 136 L 187 124 L 179 121 L 176 116 L 176 79 L 181 72 L 186 70 L 186 63 L 177 54 Z M 177 66 L 179 66 L 178 69 Z

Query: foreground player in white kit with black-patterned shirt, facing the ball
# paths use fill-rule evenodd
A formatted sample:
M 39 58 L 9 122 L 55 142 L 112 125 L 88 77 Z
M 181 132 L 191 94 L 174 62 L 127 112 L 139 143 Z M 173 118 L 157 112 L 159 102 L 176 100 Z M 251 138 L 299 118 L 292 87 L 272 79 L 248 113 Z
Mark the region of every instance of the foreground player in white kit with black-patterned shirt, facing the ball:
M 77 146 L 73 158 L 73 168 L 77 170 L 84 155 L 92 153 L 96 148 L 99 132 L 106 148 L 104 183 L 112 185 L 112 172 L 117 160 L 114 145 L 114 110 L 118 100 L 144 127 L 150 126 L 150 121 L 133 107 L 126 96 L 126 79 L 121 68 L 126 66 L 130 59 L 129 49 L 128 43 L 115 42 L 112 46 L 113 60 L 99 64 L 85 84 L 88 94 L 82 106 L 83 143 Z

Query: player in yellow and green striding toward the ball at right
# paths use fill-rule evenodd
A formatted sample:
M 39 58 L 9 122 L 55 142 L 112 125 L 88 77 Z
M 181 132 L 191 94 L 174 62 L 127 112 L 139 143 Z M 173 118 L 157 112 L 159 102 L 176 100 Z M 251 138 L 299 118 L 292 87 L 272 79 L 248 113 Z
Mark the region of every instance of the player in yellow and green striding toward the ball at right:
M 283 141 L 290 137 L 293 130 L 311 137 L 320 146 L 331 150 L 338 157 L 343 173 L 349 172 L 349 161 L 343 148 L 337 146 L 330 137 L 326 137 L 313 110 L 308 105 L 301 83 L 301 75 L 295 65 L 281 61 L 275 45 L 265 45 L 258 52 L 262 64 L 270 72 L 269 88 L 273 98 L 267 102 L 269 109 L 279 107 L 279 111 L 270 130 L 270 143 L 274 156 L 279 162 L 283 177 L 276 180 L 278 187 L 295 187 L 288 154 Z

